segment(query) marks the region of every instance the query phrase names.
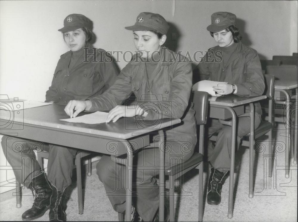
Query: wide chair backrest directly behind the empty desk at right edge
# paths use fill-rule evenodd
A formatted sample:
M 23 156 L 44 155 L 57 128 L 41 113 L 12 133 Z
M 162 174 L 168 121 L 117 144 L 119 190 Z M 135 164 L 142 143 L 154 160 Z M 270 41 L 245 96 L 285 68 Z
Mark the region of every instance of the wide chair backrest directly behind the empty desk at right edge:
M 297 82 L 297 66 L 267 66 L 265 74 L 274 75 L 275 78 Z

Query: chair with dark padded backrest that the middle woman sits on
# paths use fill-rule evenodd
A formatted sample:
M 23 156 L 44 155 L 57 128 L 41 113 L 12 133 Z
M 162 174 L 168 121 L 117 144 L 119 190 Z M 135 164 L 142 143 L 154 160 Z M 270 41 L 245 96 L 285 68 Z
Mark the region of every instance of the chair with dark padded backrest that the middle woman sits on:
M 182 164 L 176 164 L 165 170 L 165 175 L 169 180 L 166 182 L 169 188 L 170 195 L 170 221 L 174 221 L 175 207 L 174 207 L 174 184 L 175 180 L 189 170 L 199 167 L 199 221 L 203 221 L 203 153 L 204 153 L 204 125 L 207 122 L 208 113 L 208 93 L 202 91 L 193 92 L 193 103 L 195 110 L 195 119 L 199 125 L 199 153 L 194 153 L 193 156 Z

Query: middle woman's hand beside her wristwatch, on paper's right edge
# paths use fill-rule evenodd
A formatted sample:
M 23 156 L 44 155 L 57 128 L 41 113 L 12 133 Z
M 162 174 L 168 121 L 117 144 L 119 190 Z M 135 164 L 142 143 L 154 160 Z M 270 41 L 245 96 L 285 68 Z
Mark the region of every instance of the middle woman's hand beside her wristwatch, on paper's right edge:
M 108 114 L 107 120 L 105 122 L 116 122 L 120 117 L 134 117 L 137 113 L 138 106 L 135 105 L 117 105 Z

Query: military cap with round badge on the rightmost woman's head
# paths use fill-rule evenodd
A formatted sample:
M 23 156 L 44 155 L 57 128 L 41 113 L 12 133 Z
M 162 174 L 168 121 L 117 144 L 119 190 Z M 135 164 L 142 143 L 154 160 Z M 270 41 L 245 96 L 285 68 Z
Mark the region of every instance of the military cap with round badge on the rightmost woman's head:
M 211 25 L 207 27 L 209 32 L 219 32 L 229 27 L 230 25 L 235 25 L 236 15 L 229 12 L 216 12 L 211 15 Z

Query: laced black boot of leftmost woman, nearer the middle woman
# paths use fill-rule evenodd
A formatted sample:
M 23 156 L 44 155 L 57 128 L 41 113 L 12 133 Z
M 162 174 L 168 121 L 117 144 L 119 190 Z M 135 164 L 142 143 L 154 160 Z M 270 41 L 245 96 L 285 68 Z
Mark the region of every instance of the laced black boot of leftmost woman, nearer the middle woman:
M 66 221 L 66 187 L 63 191 L 58 191 L 57 188 L 52 185 L 52 189 L 49 221 Z

